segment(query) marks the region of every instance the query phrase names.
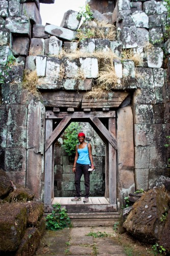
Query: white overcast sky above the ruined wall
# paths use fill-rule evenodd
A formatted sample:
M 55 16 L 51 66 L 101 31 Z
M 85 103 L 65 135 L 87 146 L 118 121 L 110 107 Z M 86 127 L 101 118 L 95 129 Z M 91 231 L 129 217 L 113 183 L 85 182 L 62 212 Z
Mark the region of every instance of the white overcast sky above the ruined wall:
M 86 0 L 55 0 L 54 4 L 40 4 L 42 25 L 50 23 L 60 26 L 64 12 L 68 10 L 79 11 Z

